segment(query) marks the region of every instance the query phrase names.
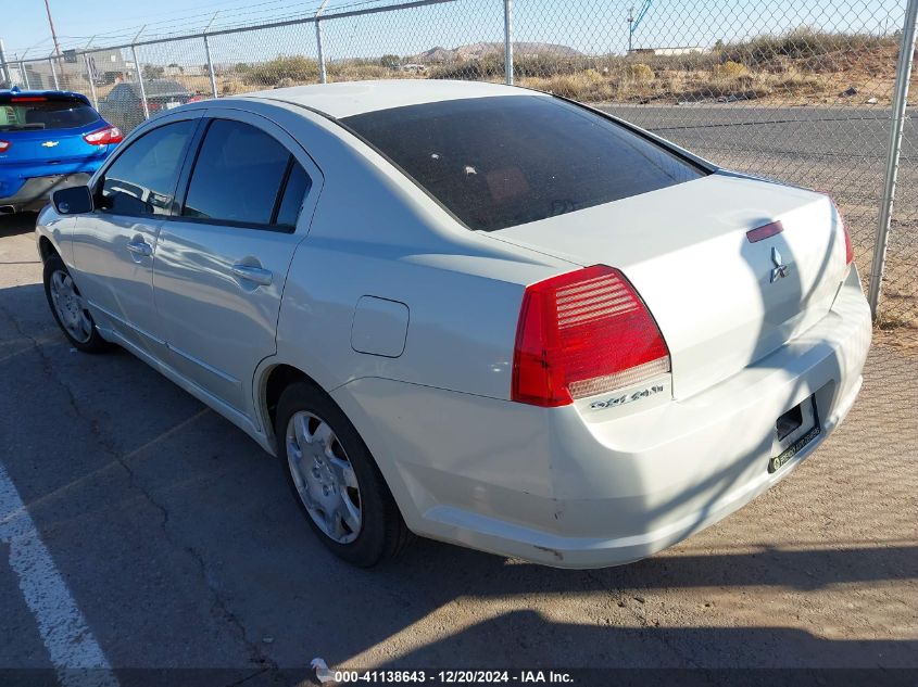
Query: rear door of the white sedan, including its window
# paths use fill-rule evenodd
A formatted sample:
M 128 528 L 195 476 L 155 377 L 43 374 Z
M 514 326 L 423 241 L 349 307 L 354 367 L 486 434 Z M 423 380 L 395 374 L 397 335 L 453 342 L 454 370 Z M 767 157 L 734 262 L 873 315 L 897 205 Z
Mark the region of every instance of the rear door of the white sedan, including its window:
M 276 352 L 287 269 L 309 230 L 320 174 L 268 119 L 208 115 L 180 182 L 180 213 L 160 236 L 153 287 L 171 365 L 251 417 L 252 374 Z

